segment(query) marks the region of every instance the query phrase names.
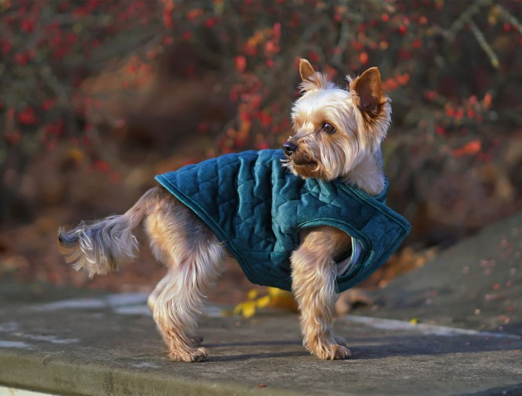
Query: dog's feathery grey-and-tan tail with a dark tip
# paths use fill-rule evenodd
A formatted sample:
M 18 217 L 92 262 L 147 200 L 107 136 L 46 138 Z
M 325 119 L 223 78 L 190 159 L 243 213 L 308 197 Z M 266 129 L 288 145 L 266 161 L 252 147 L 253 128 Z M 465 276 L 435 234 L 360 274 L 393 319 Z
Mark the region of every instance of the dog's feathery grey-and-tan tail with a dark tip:
M 85 269 L 89 276 L 116 271 L 136 257 L 139 243 L 132 234 L 147 214 L 158 188 L 147 191 L 123 215 L 109 216 L 98 222 L 81 222 L 76 228 L 58 229 L 58 247 L 76 271 Z

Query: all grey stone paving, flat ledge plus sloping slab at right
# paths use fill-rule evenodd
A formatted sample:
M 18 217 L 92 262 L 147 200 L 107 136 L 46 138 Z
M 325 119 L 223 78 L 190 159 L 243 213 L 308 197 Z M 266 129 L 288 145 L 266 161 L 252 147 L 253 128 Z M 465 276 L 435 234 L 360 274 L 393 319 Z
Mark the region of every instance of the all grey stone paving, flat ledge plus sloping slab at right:
M 334 362 L 304 350 L 296 315 L 210 307 L 208 360 L 173 363 L 146 295 L 0 280 L 0 394 L 522 394 L 520 241 L 522 215 L 390 283 L 336 321 L 352 358 Z

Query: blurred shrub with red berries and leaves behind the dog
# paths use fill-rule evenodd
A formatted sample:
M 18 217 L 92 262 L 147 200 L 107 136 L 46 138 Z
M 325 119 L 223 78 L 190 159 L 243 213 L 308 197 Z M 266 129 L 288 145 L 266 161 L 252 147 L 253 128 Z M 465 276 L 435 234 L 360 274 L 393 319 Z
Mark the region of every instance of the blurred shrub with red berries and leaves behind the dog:
M 100 152 L 125 120 L 95 117 L 103 98 L 82 83 L 123 60 L 114 89 L 132 95 L 180 45 L 219 71 L 216 89 L 236 106 L 217 127 L 199 122 L 220 153 L 277 147 L 288 137 L 300 57 L 341 83 L 377 65 L 394 108 L 385 162 L 410 203 L 423 200 L 422 186 L 411 182 L 420 170 L 432 181 L 452 161 L 491 161 L 522 122 L 517 2 L 3 0 L 0 7 L 4 198 L 35 155 L 61 142 L 110 173 L 115 156 Z M 183 64 L 182 77 L 197 73 L 197 64 Z M 89 149 L 93 138 L 98 146 Z M 410 218 L 418 211 L 393 192 L 391 199 Z

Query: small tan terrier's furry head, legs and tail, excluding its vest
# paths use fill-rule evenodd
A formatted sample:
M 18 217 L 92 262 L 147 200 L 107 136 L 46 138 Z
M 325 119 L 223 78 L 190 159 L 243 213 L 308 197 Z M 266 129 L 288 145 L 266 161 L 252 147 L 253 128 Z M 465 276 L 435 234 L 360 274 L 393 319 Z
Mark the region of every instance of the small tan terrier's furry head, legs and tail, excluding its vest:
M 391 107 L 376 67 L 333 84 L 312 65 L 300 62 L 303 95 L 292 108 L 293 135 L 283 144 L 287 168 L 296 180 L 342 179 L 375 196 L 385 188 L 381 142 Z M 207 356 L 195 335 L 198 308 L 223 269 L 223 241 L 187 206 L 162 187 L 152 188 L 125 214 L 58 231 L 62 254 L 76 270 L 106 274 L 135 257 L 132 230 L 142 219 L 157 260 L 168 267 L 148 306 L 172 360 L 196 362 Z M 350 356 L 346 341 L 332 332 L 337 299 L 335 257 L 352 249 L 351 237 L 338 228 L 300 231 L 290 259 L 292 291 L 301 311 L 304 346 L 322 359 Z

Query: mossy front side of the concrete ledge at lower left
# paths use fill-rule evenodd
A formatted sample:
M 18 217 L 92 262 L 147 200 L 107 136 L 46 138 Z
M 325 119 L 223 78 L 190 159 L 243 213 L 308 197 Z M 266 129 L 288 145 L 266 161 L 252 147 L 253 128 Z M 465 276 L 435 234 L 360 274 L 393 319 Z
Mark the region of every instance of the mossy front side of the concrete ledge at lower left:
M 11 387 L 39 389 L 45 392 L 70 395 L 201 395 L 256 394 L 256 387 L 239 386 L 226 381 L 207 381 L 165 375 L 153 363 L 139 368 L 107 365 L 93 359 L 54 359 L 51 355 L 29 353 L 2 354 L 2 382 Z M 136 364 L 134 366 L 137 366 Z M 271 394 L 282 394 L 270 392 Z M 284 392 L 291 394 L 292 392 Z

